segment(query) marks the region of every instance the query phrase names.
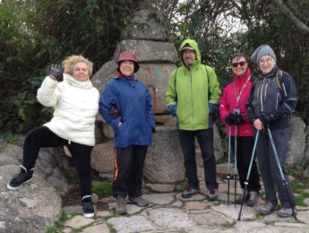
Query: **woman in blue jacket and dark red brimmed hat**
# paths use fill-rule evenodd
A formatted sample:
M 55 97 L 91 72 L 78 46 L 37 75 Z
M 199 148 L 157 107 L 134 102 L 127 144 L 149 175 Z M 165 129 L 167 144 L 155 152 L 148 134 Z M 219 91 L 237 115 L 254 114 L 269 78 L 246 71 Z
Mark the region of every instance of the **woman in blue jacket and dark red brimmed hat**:
M 149 204 L 142 198 L 142 167 L 156 124 L 150 91 L 133 75 L 139 68 L 133 53 L 122 52 L 117 76 L 107 83 L 99 101 L 101 115 L 114 129 L 116 160 L 112 193 L 118 214 L 126 213 L 126 195 L 129 203 L 141 207 Z

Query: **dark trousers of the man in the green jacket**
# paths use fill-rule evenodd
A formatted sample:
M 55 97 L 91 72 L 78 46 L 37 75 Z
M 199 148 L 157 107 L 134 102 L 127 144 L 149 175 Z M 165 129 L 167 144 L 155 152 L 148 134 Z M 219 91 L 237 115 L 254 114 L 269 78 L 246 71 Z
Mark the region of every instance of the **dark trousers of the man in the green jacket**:
M 200 188 L 195 160 L 194 138 L 196 137 L 202 151 L 206 187 L 208 189 L 218 189 L 216 158 L 213 151 L 213 129 L 196 131 L 179 130 L 178 133 L 185 157 L 185 175 L 188 179 L 189 187 L 194 189 Z

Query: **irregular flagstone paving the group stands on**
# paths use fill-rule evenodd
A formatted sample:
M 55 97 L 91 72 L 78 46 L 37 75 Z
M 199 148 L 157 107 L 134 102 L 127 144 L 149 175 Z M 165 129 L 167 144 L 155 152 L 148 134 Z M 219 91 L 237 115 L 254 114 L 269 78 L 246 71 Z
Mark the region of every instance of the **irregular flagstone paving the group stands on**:
M 234 190 L 234 182 L 230 184 Z M 234 200 L 233 190 L 230 200 Z M 237 185 L 237 194 L 241 192 Z M 293 217 L 279 218 L 277 211 L 262 216 L 256 211 L 264 203 L 260 201 L 253 208 L 244 205 L 242 220 L 237 220 L 240 205 L 227 204 L 225 180 L 219 181 L 216 202 L 207 201 L 205 188 L 189 199 L 182 198 L 180 193 L 144 194 L 143 198 L 150 206 L 127 204 L 128 213 L 123 216 L 116 215 L 112 197 L 102 200 L 108 203 L 108 208 L 97 211 L 93 219 L 84 218 L 80 206 L 64 207 L 70 219 L 64 223 L 63 232 L 309 232 L 309 207 L 296 206 L 297 222 Z M 309 198 L 305 203 L 309 203 Z

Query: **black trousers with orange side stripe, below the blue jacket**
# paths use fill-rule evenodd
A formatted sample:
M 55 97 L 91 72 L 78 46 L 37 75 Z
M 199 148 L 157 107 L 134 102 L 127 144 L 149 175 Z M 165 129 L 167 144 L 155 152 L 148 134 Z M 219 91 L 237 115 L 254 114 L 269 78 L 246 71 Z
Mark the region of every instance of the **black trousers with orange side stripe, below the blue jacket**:
M 147 149 L 147 146 L 141 145 L 115 149 L 114 197 L 125 197 L 127 194 L 130 197 L 142 195 L 142 168 Z

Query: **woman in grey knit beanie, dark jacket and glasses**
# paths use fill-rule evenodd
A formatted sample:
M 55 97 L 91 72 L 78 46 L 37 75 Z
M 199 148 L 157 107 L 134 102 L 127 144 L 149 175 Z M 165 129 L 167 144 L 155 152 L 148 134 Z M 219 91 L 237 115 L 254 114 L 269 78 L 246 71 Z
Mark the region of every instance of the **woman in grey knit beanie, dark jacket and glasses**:
M 255 65 L 258 65 L 259 74 L 253 81 L 246 109 L 253 123 L 254 133 L 260 131 L 256 153 L 266 195 L 266 203 L 260 207 L 259 212 L 269 214 L 277 208 L 277 189 L 282 205 L 278 215 L 288 217 L 293 214 L 292 208 L 296 205 L 295 196 L 285 171 L 290 134 L 289 115 L 296 108 L 296 85 L 287 72 L 279 70 L 276 65 L 276 56 L 270 46 L 258 47 L 251 59 Z M 278 152 L 279 164 L 270 142 L 268 129 L 270 129 Z M 284 185 L 280 168 L 286 180 Z

